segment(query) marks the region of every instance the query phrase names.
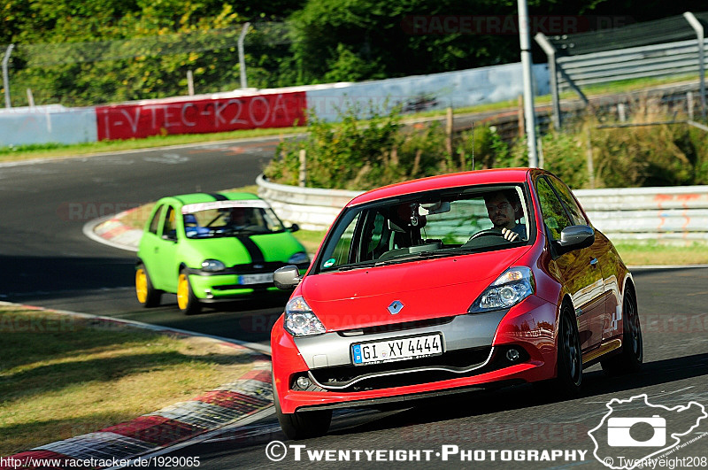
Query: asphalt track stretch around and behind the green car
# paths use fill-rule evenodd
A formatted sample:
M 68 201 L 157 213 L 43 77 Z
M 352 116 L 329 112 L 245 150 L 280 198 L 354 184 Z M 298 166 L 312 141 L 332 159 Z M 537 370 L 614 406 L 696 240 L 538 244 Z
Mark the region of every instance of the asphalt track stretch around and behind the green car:
M 135 300 L 135 253 L 90 241 L 89 220 L 162 196 L 255 184 L 278 138 L 204 143 L 0 165 L 3 243 L 0 300 L 110 315 L 209 335 L 267 343 L 283 298 L 240 301 L 194 318 L 165 295 L 163 306 Z

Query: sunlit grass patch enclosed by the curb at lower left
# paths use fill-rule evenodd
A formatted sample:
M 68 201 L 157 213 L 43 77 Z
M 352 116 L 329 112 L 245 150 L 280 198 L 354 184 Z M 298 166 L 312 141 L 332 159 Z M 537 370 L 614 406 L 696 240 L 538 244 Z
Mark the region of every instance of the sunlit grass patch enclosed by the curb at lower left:
M 250 370 L 250 355 L 166 335 L 0 305 L 0 455 L 189 400 Z

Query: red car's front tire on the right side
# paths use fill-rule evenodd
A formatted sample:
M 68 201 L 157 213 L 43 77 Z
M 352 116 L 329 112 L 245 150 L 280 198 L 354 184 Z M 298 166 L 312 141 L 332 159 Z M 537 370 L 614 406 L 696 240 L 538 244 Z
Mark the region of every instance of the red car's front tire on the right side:
M 558 374 L 555 386 L 565 397 L 577 396 L 582 385 L 582 351 L 578 322 L 573 309 L 564 304 L 558 318 Z

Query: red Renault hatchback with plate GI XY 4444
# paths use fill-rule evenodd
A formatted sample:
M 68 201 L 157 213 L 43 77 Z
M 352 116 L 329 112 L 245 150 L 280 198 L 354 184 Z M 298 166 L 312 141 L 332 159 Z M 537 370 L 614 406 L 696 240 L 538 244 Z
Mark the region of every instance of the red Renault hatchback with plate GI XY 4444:
M 582 369 L 643 360 L 635 285 L 570 189 L 540 169 L 447 174 L 355 197 L 271 335 L 291 439 L 334 408 L 524 382 L 577 393 Z

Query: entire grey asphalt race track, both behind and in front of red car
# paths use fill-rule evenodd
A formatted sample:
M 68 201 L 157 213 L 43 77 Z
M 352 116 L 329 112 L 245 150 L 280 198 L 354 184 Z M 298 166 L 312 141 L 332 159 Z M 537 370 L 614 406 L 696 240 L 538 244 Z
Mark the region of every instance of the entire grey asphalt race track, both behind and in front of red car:
M 134 298 L 134 254 L 92 242 L 81 228 L 91 218 L 111 213 L 112 207 L 122 210 L 169 194 L 253 184 L 273 156 L 275 143 L 277 139 L 261 139 L 0 165 L 0 299 L 267 343 L 281 299 L 228 304 L 185 317 L 174 299 L 165 296 L 163 306 L 144 310 Z M 591 432 L 598 455 L 612 458 L 612 465 L 620 468 L 627 467 L 622 458 L 666 454 L 660 446 L 635 447 L 628 453 L 608 446 L 607 404 L 613 398 L 646 394 L 650 405 L 635 399 L 615 405 L 616 411 L 640 420 L 667 414 L 666 446 L 673 435 L 684 432 L 681 443 L 698 439 L 663 458 L 673 459 L 673 467 L 708 466 L 708 434 L 701 437 L 708 433 L 708 418 L 698 420 L 696 413 L 708 406 L 708 268 L 637 269 L 634 274 L 644 335 L 643 372 L 610 378 L 594 366 L 584 377 L 581 397 L 558 401 L 524 385 L 431 399 L 405 409 L 339 412 L 329 435 L 285 442 L 285 449 L 280 444 L 268 447 L 285 440 L 271 415 L 167 456 L 199 457 L 200 470 L 299 468 L 312 466 L 311 458 L 318 457 L 321 467 L 607 468 L 593 456 Z M 691 402 L 682 412 L 657 408 Z M 657 430 L 640 423 L 631 432 L 613 432 L 643 442 Z M 266 449 L 282 459 L 271 460 Z M 556 457 L 535 461 L 535 456 Z

